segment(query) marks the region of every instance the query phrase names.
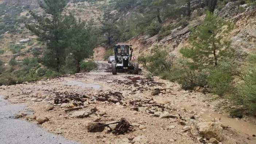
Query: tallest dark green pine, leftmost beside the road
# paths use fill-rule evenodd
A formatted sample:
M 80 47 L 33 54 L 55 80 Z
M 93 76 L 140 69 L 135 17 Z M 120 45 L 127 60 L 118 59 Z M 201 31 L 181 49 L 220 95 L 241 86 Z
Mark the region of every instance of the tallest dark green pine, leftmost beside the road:
M 65 48 L 67 47 L 68 35 L 66 35 L 65 24 L 62 15 L 66 6 L 65 0 L 43 0 L 40 7 L 49 17 L 36 15 L 30 11 L 35 19 L 35 24 L 26 24 L 26 27 L 38 36 L 38 40 L 47 43 L 47 50 L 44 53 L 44 65 L 59 71 L 65 59 Z

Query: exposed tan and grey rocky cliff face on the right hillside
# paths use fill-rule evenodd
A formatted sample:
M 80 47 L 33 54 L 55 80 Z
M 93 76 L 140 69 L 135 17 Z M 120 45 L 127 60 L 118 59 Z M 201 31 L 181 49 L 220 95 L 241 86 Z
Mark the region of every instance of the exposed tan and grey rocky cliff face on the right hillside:
M 234 30 L 228 35 L 232 40 L 232 46 L 237 52 L 238 60 L 243 61 L 246 55 L 256 48 L 256 7 L 248 5 L 238 7 L 237 3 L 230 2 L 221 11 L 217 11 L 217 14 L 234 23 Z M 171 52 L 179 57 L 181 55 L 179 50 L 189 45 L 187 38 L 190 35 L 190 29 L 198 26 L 204 16 L 190 21 L 189 25 L 185 28 L 178 27 L 171 30 L 171 34 L 160 41 L 157 40 L 157 36 L 152 38 L 139 36 L 138 38 L 131 39 L 129 43 L 133 45 L 136 57 L 143 54 L 150 54 L 150 50 L 155 45 L 159 45 L 167 52 Z

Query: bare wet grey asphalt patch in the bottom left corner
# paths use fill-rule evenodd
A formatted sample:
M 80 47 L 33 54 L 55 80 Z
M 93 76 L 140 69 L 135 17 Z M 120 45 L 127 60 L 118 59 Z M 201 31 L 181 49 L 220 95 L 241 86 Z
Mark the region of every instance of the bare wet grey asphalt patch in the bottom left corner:
M 24 105 L 8 104 L 0 96 L 0 144 L 78 144 L 48 133 L 36 124 L 15 119 L 15 114 L 24 108 Z

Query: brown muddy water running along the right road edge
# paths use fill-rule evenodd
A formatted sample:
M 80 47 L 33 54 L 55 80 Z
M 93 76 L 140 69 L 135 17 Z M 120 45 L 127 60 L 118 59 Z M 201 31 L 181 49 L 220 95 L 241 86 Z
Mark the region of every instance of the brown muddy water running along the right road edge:
M 256 124 L 253 122 L 238 120 L 236 118 L 228 117 L 225 114 L 211 112 L 204 108 L 190 106 L 189 104 L 183 104 L 182 106 L 187 110 L 193 110 L 198 113 L 199 116 L 206 121 L 212 121 L 214 118 L 216 120 L 220 119 L 223 125 L 230 127 L 232 131 L 237 132 L 238 135 L 247 138 L 247 140 L 244 141 L 245 143 L 256 144 L 256 138 L 253 137 L 253 135 L 256 135 Z M 239 137 L 236 137 L 236 139 L 239 139 Z

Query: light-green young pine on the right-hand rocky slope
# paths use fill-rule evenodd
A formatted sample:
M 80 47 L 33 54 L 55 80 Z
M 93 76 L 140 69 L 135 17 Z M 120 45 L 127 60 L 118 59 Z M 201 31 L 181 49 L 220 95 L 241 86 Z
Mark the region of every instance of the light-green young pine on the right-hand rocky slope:
M 233 48 L 230 40 L 224 34 L 232 30 L 232 24 L 223 20 L 211 12 L 207 12 L 201 26 L 192 30 L 189 37 L 190 48 L 183 48 L 181 53 L 184 57 L 193 61 L 191 66 L 214 66 L 224 57 L 233 56 Z

